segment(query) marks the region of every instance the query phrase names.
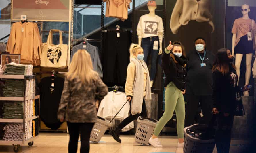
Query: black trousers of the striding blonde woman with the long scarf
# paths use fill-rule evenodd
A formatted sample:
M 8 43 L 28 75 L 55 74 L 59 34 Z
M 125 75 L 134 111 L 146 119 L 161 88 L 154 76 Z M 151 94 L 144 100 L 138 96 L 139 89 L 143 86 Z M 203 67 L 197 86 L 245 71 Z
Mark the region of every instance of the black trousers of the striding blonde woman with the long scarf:
M 129 123 L 131 123 L 132 121 L 134 121 L 135 119 L 137 119 L 139 116 L 142 117 L 148 117 L 147 115 L 147 108 L 146 108 L 146 103 L 145 100 L 143 99 L 143 103 L 142 103 L 142 111 L 140 114 L 135 114 L 135 115 L 129 115 L 128 117 L 126 117 L 118 126 L 117 128 L 119 128 L 120 130 L 122 130 L 126 125 L 128 125 Z

